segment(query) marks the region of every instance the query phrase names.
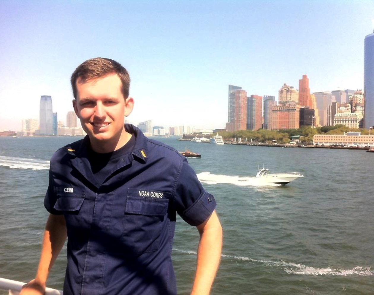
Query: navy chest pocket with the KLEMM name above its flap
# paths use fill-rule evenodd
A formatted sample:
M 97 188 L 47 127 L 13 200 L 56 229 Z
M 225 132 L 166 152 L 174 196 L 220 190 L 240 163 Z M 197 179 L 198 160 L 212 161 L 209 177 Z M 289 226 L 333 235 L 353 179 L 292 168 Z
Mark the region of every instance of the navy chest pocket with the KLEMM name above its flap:
M 64 213 L 67 227 L 82 226 L 79 211 L 85 200 L 85 187 L 56 187 L 56 196 L 53 208 Z

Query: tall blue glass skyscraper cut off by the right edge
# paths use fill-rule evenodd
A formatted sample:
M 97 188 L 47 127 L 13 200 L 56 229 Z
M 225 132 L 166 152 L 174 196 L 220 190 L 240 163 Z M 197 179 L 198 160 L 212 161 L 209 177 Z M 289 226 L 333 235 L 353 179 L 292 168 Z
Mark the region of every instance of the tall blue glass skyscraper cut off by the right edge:
M 374 126 L 374 30 L 365 37 L 364 53 L 364 128 Z

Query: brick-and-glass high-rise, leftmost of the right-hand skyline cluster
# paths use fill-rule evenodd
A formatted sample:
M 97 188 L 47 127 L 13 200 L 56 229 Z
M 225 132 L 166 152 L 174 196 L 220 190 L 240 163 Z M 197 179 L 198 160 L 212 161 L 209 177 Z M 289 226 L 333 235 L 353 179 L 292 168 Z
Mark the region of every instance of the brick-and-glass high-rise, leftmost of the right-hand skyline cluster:
M 233 132 L 247 127 L 247 92 L 239 86 L 229 85 L 229 122 L 226 130 Z

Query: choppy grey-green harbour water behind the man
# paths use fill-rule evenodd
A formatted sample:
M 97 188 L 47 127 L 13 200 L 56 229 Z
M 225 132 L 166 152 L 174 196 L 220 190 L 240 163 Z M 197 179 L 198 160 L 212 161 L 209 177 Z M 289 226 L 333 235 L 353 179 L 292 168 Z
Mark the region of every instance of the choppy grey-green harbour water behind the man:
M 53 152 L 77 138 L 0 137 L 0 277 L 28 281 L 39 259 L 43 198 Z M 182 151 L 214 194 L 224 228 L 212 294 L 373 294 L 374 155 L 365 151 L 211 145 L 160 139 Z M 258 186 L 257 164 L 301 172 L 282 186 Z M 249 178 L 248 178 L 249 179 Z M 173 261 L 178 294 L 189 294 L 198 233 L 177 219 Z M 62 289 L 64 248 L 49 286 Z

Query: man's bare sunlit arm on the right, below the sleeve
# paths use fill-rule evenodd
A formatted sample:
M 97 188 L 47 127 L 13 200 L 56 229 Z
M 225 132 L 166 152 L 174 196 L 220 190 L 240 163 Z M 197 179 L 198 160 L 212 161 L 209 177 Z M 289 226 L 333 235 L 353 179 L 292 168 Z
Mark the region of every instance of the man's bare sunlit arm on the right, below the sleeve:
M 218 216 L 212 215 L 197 226 L 200 233 L 197 266 L 191 295 L 209 295 L 221 259 L 222 227 Z

